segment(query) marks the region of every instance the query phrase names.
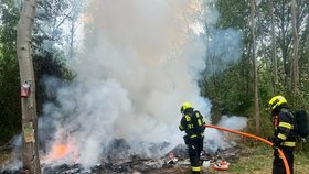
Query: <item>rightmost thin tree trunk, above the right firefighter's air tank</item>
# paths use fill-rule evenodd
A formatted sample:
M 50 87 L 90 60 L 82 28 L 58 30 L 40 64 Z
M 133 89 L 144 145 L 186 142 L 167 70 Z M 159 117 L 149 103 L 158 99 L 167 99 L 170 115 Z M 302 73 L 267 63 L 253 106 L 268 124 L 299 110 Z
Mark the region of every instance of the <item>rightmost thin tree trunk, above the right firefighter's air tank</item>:
M 291 64 L 291 88 L 296 93 L 299 85 L 299 69 L 298 69 L 298 32 L 297 32 L 297 14 L 296 0 L 291 0 L 291 24 L 292 24 L 292 64 Z

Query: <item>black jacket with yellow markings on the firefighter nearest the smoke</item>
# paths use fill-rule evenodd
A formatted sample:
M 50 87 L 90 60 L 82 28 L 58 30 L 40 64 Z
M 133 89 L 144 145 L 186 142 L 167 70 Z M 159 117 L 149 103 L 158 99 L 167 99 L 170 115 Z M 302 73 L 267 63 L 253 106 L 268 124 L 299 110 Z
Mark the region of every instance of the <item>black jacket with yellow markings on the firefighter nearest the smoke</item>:
M 188 138 L 203 137 L 205 118 L 198 110 L 189 110 L 181 118 L 179 129 L 185 131 Z

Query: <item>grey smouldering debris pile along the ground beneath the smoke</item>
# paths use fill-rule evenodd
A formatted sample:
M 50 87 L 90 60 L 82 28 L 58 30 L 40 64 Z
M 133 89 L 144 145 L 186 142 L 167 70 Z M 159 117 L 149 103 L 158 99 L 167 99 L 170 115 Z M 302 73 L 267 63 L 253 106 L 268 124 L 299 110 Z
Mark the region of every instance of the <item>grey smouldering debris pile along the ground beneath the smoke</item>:
M 42 165 L 44 174 L 152 174 L 156 171 L 189 168 L 190 161 L 187 145 L 162 143 L 140 143 L 141 153 L 135 153 L 132 146 L 124 139 L 114 139 L 108 148 L 103 149 L 100 163 L 89 168 L 76 164 Z M 216 151 L 210 149 L 212 141 L 205 141 L 201 160 L 204 167 L 210 167 L 219 160 L 234 160 L 241 148 L 233 141 Z M 151 155 L 150 155 L 151 154 Z M 153 155 L 154 154 L 154 155 Z M 21 170 L 4 170 L 1 174 L 19 174 Z

